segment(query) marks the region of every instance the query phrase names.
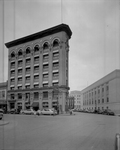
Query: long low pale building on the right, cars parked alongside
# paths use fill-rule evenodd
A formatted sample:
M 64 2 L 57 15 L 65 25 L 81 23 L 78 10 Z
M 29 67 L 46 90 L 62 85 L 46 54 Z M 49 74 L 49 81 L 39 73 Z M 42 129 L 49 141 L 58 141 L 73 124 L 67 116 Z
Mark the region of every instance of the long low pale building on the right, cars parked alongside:
M 111 109 L 120 113 L 120 70 L 115 70 L 81 91 L 83 109 Z

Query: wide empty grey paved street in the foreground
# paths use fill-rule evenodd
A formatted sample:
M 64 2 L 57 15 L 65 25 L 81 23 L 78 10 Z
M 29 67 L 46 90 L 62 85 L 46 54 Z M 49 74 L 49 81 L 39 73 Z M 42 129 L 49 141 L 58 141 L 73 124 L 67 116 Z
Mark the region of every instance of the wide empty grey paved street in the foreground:
M 34 116 L 5 114 L 0 150 L 114 150 L 120 117 L 88 113 Z

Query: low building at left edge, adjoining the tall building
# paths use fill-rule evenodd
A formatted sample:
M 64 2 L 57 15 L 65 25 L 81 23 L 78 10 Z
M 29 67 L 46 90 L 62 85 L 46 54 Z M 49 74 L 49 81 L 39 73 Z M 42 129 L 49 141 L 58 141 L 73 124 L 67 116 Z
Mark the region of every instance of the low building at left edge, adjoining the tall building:
M 7 110 L 7 82 L 0 83 L 0 108 Z

